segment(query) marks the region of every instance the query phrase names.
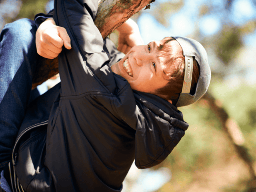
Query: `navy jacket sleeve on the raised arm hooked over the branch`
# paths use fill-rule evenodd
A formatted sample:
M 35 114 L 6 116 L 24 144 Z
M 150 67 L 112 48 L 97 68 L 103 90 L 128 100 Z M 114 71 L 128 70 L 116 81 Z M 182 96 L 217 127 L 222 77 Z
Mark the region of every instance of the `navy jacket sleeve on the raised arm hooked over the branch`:
M 62 96 L 114 92 L 107 48 L 94 25 L 97 10 L 97 0 L 54 2 L 54 20 L 66 28 L 72 46 L 71 50 L 63 48 L 58 57 Z

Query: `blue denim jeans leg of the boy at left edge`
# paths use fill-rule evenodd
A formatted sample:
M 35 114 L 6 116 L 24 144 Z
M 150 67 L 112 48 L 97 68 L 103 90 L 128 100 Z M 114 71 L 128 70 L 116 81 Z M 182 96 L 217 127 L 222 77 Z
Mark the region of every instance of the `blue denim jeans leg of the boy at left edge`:
M 6 24 L 0 34 L 0 170 L 11 160 L 12 148 L 30 100 L 38 57 L 36 29 L 34 21 L 20 19 Z

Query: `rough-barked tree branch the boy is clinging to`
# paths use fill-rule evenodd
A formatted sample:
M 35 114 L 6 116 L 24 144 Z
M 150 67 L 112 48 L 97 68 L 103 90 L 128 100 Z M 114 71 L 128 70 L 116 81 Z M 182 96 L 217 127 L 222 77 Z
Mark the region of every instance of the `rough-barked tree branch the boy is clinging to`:
M 133 14 L 150 4 L 152 0 L 101 0 L 94 21 L 103 38 L 106 38 L 118 26 Z M 153 0 L 154 1 L 154 0 Z M 38 69 L 33 76 L 32 89 L 58 74 L 58 57 L 51 60 L 38 58 Z

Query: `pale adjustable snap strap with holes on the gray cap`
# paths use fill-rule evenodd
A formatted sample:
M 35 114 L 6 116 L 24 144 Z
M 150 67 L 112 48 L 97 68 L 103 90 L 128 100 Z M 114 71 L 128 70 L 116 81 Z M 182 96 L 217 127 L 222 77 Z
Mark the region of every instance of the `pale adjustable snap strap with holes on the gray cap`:
M 189 93 L 191 82 L 192 82 L 192 72 L 193 72 L 193 57 L 185 56 L 185 74 L 184 82 L 182 86 L 182 93 Z

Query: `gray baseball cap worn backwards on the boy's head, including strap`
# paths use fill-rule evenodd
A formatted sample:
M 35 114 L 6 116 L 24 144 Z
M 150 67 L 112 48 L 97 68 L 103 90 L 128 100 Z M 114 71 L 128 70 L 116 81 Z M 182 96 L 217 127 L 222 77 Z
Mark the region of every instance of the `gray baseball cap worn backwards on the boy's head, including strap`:
M 196 102 L 206 93 L 211 80 L 211 70 L 208 64 L 206 50 L 199 42 L 185 37 L 172 38 L 174 38 L 180 44 L 185 57 L 184 82 L 182 92 L 180 93 L 176 103 L 176 107 L 181 107 Z M 191 95 L 189 92 L 192 81 L 193 57 L 198 62 L 200 73 L 198 82 L 196 84 L 196 92 L 194 95 Z

